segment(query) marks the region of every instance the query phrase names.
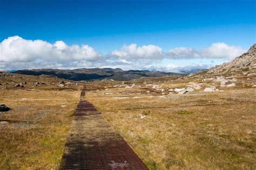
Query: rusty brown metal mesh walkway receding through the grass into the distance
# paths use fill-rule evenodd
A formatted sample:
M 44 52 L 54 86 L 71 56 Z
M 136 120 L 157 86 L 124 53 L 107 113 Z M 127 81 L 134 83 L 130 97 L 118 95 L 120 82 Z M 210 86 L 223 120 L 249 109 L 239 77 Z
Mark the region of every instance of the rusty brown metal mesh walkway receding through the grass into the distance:
M 85 87 L 73 115 L 60 169 L 147 169 L 84 95 Z

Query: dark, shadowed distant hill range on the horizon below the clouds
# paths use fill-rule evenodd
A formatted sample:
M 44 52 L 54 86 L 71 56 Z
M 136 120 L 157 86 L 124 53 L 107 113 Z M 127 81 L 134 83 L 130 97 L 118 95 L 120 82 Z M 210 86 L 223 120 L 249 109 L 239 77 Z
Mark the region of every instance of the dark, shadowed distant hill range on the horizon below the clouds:
M 80 68 L 80 69 L 25 69 L 12 73 L 26 75 L 54 75 L 62 79 L 75 81 L 93 81 L 100 79 L 113 79 L 130 81 L 140 77 L 163 77 L 167 75 L 180 75 L 177 73 L 154 72 L 149 70 L 122 70 L 120 68 Z

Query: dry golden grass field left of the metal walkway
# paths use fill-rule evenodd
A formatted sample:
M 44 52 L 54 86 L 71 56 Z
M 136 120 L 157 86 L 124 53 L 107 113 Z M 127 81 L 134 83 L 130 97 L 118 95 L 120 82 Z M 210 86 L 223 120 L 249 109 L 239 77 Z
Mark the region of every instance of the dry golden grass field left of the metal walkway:
M 28 77 L 25 88 L 0 90 L 0 103 L 11 108 L 0 112 L 0 121 L 9 122 L 0 124 L 0 169 L 58 169 L 81 87 L 32 87 L 38 78 Z

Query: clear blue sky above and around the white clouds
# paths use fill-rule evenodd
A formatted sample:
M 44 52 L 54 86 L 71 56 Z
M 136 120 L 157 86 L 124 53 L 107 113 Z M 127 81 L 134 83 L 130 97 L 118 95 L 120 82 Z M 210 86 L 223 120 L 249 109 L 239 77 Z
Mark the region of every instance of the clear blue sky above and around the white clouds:
M 115 50 L 122 51 L 123 45 L 131 44 L 137 44 L 137 47 L 158 46 L 163 53 L 180 47 L 193 48 L 200 53 L 201 49 L 209 48 L 218 42 L 246 50 L 255 43 L 255 1 L 1 0 L 0 42 L 13 36 L 24 40 L 39 39 L 50 44 L 64 41 L 67 46 L 89 45 L 95 52 L 103 55 L 104 60 L 111 62 L 118 59 L 132 61 L 131 56 L 119 56 L 118 59 L 117 56 L 109 56 Z M 240 49 L 239 52 L 243 51 Z M 2 58 L 7 58 L 4 54 Z M 182 66 L 199 61 L 214 65 L 232 59 L 220 55 L 216 57 L 215 54 L 207 58 L 201 53 L 200 57 L 187 56 L 186 59 L 181 57 L 180 60 L 177 59 L 178 56 L 174 57 L 176 59 L 163 57 L 157 61 L 151 56 L 147 57 L 151 61 L 144 65 L 145 67 L 169 64 Z M 144 60 L 146 56 L 142 58 Z M 32 60 L 38 59 L 46 62 L 43 56 Z M 82 60 L 92 62 L 87 58 Z M 2 69 L 7 69 L 4 68 L 6 62 L 8 61 L 2 59 Z M 63 62 L 59 60 L 59 63 Z M 93 63 L 81 66 L 93 67 Z M 123 68 L 131 67 L 132 65 Z

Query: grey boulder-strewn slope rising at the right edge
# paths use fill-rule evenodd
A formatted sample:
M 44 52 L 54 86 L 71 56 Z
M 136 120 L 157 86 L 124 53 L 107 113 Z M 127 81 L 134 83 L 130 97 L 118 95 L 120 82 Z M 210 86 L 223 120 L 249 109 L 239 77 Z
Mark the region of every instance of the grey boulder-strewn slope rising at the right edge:
M 208 73 L 232 73 L 232 72 L 250 72 L 254 73 L 256 69 L 256 44 L 251 46 L 248 52 L 238 56 L 231 62 L 212 67 Z

